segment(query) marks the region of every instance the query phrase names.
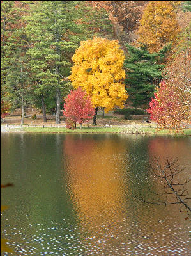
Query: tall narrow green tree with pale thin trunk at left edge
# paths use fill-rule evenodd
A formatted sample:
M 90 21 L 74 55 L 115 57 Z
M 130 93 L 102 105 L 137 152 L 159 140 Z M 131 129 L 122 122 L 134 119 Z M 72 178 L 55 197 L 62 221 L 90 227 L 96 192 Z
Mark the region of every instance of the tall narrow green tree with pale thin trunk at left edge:
M 2 14 L 3 23 L 3 58 L 1 71 L 3 84 L 8 88 L 13 104 L 19 104 L 22 109 L 21 124 L 24 124 L 24 109 L 29 100 L 29 67 L 26 56 L 30 44 L 26 36 L 26 24 L 22 17 L 27 15 L 27 3 L 13 1 L 12 4 L 4 3 Z M 9 7 L 9 8 L 7 8 Z M 8 10 L 8 13 L 5 11 Z

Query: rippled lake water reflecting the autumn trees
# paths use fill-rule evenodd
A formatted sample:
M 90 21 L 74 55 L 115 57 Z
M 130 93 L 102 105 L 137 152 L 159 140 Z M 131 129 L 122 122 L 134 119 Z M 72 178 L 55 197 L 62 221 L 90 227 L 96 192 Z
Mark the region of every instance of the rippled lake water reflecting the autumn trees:
M 153 156 L 178 156 L 188 179 L 190 149 L 189 137 L 1 134 L 1 184 L 14 184 L 1 235 L 17 255 L 188 256 L 187 215 L 137 195 L 158 189 Z

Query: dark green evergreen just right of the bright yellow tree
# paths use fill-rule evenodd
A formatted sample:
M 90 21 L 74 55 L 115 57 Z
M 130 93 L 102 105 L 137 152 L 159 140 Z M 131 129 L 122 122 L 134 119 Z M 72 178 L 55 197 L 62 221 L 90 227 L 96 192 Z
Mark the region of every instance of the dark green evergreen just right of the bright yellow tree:
M 161 71 L 164 68 L 161 63 L 171 45 L 167 45 L 160 52 L 152 54 L 144 48 L 136 48 L 129 44 L 126 47 L 129 54 L 124 64 L 126 68 L 126 91 L 130 95 L 129 99 L 133 106 L 142 106 L 149 103 L 155 87 L 160 84 Z

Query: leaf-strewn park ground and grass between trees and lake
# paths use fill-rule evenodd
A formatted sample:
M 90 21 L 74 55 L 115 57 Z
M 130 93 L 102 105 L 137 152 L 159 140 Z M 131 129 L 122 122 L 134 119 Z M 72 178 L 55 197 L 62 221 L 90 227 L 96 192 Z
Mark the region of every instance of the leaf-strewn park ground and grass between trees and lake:
M 31 116 L 36 115 L 36 119 Z M 43 122 L 42 113 L 36 109 L 28 108 L 24 118 L 24 125 L 20 127 L 21 113 L 20 109 L 10 113 L 1 122 L 1 132 L 77 132 L 77 133 L 131 133 L 131 134 L 172 134 L 168 130 L 157 130 L 157 125 L 151 121 L 145 122 L 145 118 L 149 115 L 132 115 L 132 120 L 124 120 L 123 115 L 118 115 L 109 111 L 102 116 L 102 111 L 98 111 L 96 125 L 92 125 L 92 120 L 88 120 L 80 125 L 77 124 L 77 129 L 70 130 L 65 128 L 65 117 L 61 115 L 61 124 L 56 124 L 55 115 L 47 115 L 47 122 Z M 191 136 L 191 129 L 184 129 L 184 134 Z

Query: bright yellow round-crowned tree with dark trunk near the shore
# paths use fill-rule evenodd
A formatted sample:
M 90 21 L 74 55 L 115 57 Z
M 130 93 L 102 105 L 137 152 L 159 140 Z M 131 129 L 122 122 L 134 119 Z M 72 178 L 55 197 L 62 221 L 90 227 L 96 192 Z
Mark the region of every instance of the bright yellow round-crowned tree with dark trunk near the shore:
M 95 106 L 93 124 L 96 124 L 98 107 L 105 112 L 115 106 L 123 108 L 128 95 L 125 90 L 125 55 L 118 40 L 95 37 L 82 41 L 73 55 L 72 74 L 69 79 L 74 88 L 79 86 L 91 96 Z

